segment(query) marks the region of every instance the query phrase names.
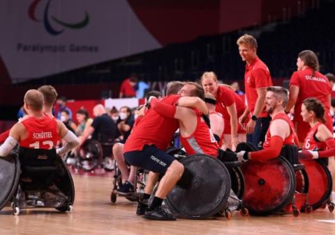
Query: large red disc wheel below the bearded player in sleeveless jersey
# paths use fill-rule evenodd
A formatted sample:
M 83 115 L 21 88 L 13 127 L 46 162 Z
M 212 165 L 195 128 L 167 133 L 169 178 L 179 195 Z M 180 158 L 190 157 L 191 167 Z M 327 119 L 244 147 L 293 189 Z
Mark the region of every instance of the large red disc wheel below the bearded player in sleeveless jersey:
M 281 211 L 292 200 L 296 188 L 295 172 L 283 157 L 266 163 L 246 161 L 241 170 L 246 181 L 243 201 L 249 213 L 267 216 Z

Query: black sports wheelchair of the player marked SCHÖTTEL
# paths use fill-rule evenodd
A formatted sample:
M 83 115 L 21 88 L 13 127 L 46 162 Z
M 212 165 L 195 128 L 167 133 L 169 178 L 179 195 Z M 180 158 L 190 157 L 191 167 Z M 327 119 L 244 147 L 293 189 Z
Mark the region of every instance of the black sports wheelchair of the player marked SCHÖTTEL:
M 14 215 L 34 207 L 73 211 L 73 179 L 55 149 L 20 147 L 0 158 L 0 210 L 11 204 Z

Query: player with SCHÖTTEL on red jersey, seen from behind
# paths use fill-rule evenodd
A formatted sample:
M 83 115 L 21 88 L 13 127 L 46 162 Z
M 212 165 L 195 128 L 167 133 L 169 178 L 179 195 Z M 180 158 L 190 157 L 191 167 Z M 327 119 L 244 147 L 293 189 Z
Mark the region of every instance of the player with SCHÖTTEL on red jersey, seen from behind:
M 62 138 L 66 145 L 57 149 L 57 154 L 65 154 L 79 144 L 77 137 L 62 122 L 43 113 L 43 94 L 38 90 L 26 92 L 24 109 L 28 117 L 10 129 L 8 138 L 0 147 L 0 156 L 7 156 L 17 143 L 31 149 L 52 149 Z

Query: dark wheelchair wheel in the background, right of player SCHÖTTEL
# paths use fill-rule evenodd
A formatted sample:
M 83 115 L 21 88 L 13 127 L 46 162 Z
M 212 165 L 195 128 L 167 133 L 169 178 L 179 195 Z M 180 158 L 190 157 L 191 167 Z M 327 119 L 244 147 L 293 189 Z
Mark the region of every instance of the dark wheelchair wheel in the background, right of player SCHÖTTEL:
M 103 158 L 103 149 L 97 140 L 86 140 L 79 151 L 79 165 L 80 168 L 86 171 L 94 170 L 101 163 Z

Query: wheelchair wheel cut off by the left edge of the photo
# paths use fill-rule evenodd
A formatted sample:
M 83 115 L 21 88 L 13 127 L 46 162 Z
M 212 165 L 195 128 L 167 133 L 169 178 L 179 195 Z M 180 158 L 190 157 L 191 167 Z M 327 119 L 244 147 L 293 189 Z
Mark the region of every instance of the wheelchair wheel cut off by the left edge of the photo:
M 20 179 L 20 161 L 15 152 L 0 157 L 0 210 L 12 199 Z

